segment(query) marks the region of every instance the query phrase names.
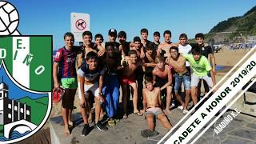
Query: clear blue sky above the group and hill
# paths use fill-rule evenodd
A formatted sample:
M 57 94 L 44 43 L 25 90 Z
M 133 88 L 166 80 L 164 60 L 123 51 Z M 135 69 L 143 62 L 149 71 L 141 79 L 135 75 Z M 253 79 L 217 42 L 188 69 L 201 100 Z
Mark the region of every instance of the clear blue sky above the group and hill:
M 23 35 L 53 35 L 53 49 L 64 46 L 63 34 L 70 31 L 70 13 L 90 14 L 90 31 L 102 34 L 107 41 L 110 28 L 124 30 L 127 41 L 140 36 L 140 30 L 149 30 L 153 41 L 154 31 L 172 32 L 172 42 L 178 42 L 179 34 L 188 38 L 202 32 L 208 33 L 218 22 L 234 16 L 242 16 L 255 0 L 11 0 L 19 13 L 18 30 Z

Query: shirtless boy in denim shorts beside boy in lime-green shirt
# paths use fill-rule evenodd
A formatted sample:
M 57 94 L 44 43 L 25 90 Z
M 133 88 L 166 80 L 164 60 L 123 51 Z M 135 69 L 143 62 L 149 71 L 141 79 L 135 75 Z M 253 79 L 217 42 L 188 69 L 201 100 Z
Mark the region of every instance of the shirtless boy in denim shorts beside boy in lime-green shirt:
M 175 74 L 175 84 L 174 84 L 174 92 L 178 102 L 182 104 L 182 106 L 178 106 L 179 110 L 183 110 L 183 114 L 188 113 L 187 106 L 190 102 L 190 72 L 186 69 L 186 58 L 182 57 L 178 53 L 178 47 L 172 46 L 170 47 L 170 61 L 169 65 L 174 68 Z M 186 90 L 185 103 L 182 102 L 181 96 L 178 94 L 178 89 L 183 85 Z

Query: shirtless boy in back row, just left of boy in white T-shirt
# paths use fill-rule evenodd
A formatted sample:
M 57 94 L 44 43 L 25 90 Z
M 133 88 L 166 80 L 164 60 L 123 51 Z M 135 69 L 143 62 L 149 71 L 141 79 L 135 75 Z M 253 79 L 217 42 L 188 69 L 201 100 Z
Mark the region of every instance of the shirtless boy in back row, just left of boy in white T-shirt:
M 172 42 L 170 42 L 170 38 L 171 38 L 171 32 L 170 30 L 166 30 L 163 33 L 163 38 L 165 39 L 165 42 L 160 43 L 160 45 L 158 46 L 158 56 L 162 56 L 165 59 L 170 57 L 170 52 L 169 49 L 171 46 L 176 46 L 175 44 L 173 44 Z

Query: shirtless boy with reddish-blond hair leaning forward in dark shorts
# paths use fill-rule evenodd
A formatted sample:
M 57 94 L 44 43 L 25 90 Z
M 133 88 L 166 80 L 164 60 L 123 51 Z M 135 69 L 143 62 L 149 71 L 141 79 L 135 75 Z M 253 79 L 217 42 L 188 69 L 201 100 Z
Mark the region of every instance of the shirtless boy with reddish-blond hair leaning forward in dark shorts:
M 155 58 L 157 66 L 152 71 L 154 84 L 160 87 L 160 90 L 166 90 L 166 112 L 170 114 L 170 102 L 172 98 L 172 74 L 170 66 L 165 64 L 165 60 L 162 57 Z

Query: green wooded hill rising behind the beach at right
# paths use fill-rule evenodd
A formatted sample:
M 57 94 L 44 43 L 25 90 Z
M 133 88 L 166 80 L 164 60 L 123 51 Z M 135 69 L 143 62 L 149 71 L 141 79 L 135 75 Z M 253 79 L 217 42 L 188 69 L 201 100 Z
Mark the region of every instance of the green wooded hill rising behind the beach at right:
M 250 37 L 256 35 L 256 6 L 243 14 L 218 22 L 208 34 L 206 41 L 214 38 L 215 42 L 242 42 L 239 37 Z

